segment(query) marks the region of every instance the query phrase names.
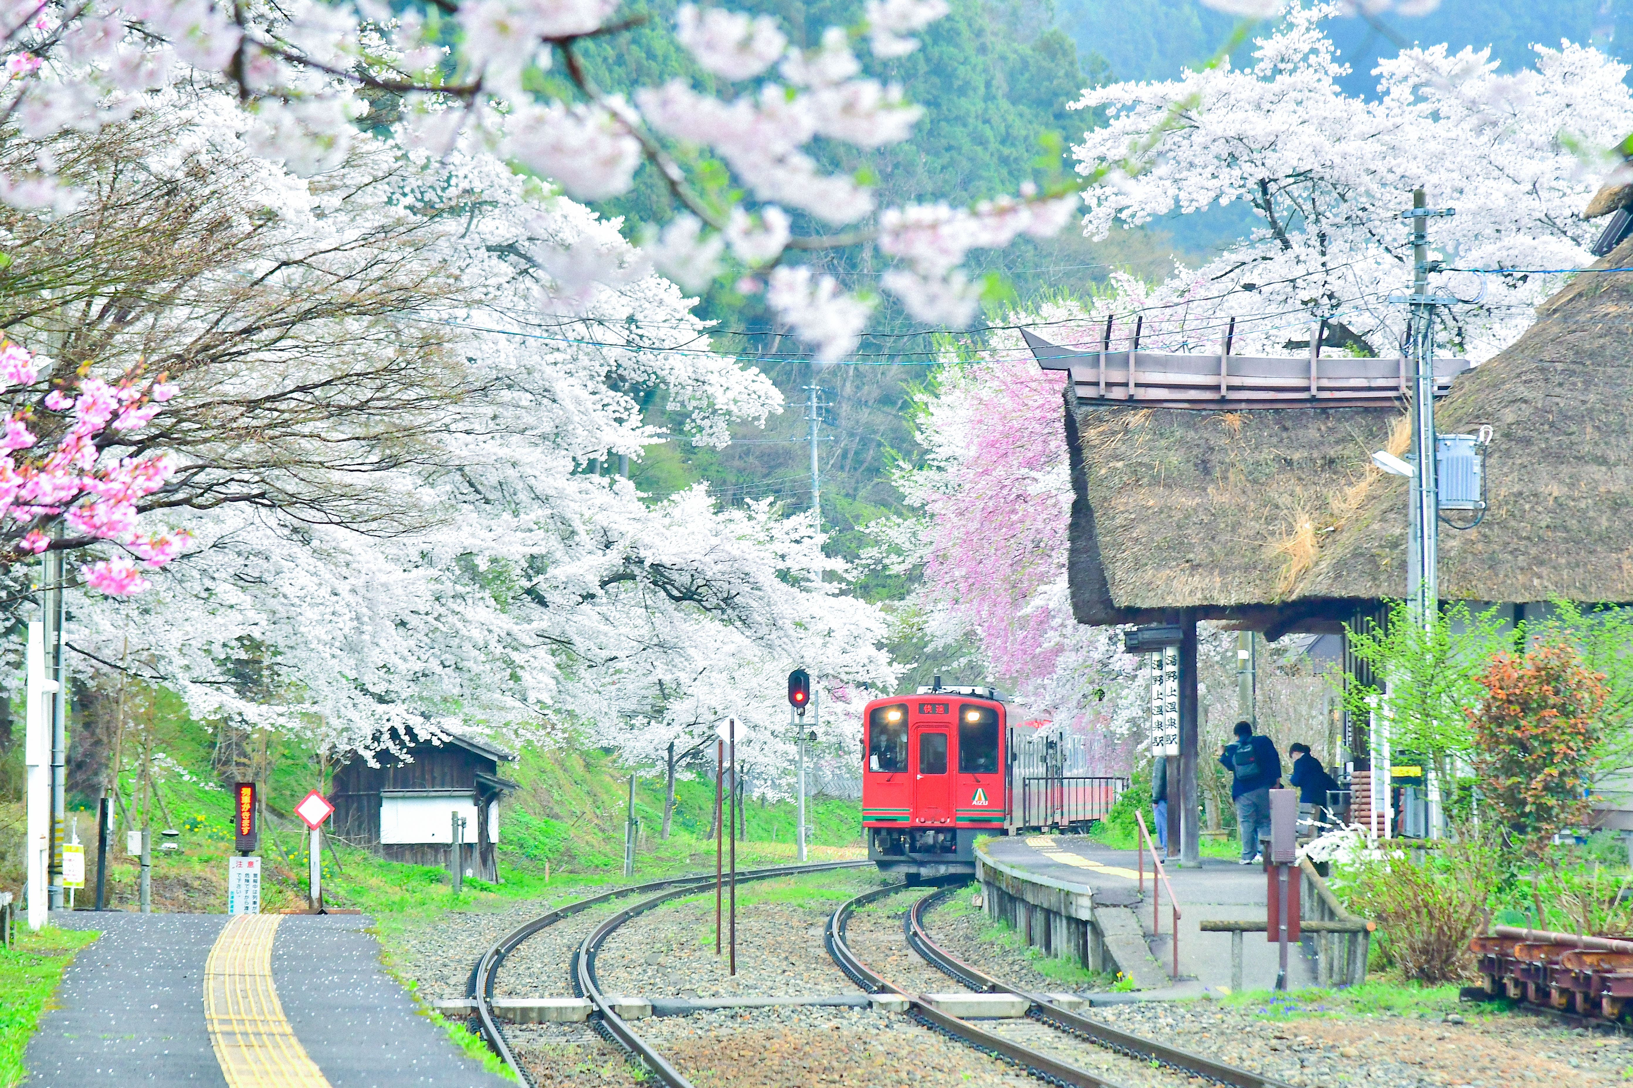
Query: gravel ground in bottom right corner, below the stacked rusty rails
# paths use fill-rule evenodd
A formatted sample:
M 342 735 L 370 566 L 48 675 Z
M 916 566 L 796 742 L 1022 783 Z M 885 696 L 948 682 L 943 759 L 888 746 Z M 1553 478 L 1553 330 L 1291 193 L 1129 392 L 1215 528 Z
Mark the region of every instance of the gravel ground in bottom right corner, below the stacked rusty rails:
M 1633 1039 L 1555 1026 L 1525 1013 L 1447 1023 L 1419 1016 L 1355 1015 L 1264 1019 L 1256 1008 L 1115 1005 L 1094 1016 L 1177 1046 L 1280 1077 L 1302 1088 L 1378 1085 L 1419 1088 L 1626 1083 Z

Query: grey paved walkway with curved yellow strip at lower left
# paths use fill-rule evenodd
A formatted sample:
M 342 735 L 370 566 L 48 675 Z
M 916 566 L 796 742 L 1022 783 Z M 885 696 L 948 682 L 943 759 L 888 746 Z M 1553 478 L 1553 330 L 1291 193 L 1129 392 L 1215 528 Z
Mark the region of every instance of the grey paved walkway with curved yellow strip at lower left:
M 359 915 L 56 913 L 101 930 L 28 1044 L 28 1088 L 514 1088 L 418 1015 Z

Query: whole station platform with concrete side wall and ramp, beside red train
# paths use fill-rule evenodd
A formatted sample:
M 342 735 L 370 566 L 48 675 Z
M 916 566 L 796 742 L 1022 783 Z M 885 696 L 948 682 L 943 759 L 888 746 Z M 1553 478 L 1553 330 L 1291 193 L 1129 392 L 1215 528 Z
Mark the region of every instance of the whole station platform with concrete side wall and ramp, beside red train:
M 1164 863 L 1166 865 L 1166 863 Z M 988 838 L 978 848 L 977 879 L 986 889 L 988 913 L 1008 915 L 1027 940 L 1052 954 L 1081 956 L 1091 969 L 1120 971 L 1146 997 L 1228 992 L 1231 935 L 1204 933 L 1202 922 L 1262 922 L 1266 873 L 1257 865 L 1204 858 L 1200 866 L 1166 868 L 1179 900 L 1179 979 L 1172 969 L 1172 910 L 1164 889 L 1153 930 L 1153 876 L 1140 855 L 1110 850 L 1084 835 L 1016 835 Z M 1083 927 L 1081 938 L 1075 936 Z M 1078 943 L 1081 941 L 1081 944 Z M 1275 985 L 1277 944 L 1264 933 L 1244 933 L 1243 988 Z M 1316 985 L 1311 938 L 1288 949 L 1287 987 Z

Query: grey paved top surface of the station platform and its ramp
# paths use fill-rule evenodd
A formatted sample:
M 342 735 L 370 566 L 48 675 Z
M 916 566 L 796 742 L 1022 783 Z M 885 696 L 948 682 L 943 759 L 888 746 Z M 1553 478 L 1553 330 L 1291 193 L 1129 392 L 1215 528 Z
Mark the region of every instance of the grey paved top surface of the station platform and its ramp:
M 1140 896 L 1140 855 L 1133 850 L 1107 850 L 1083 835 L 1017 835 L 990 838 L 986 853 L 1003 865 L 1037 873 L 1063 884 L 1076 884 L 1094 894 L 1094 902 L 1135 907 L 1140 925 L 1151 933 L 1151 860 L 1145 860 L 1146 897 Z M 1166 863 L 1164 863 L 1166 866 Z M 1257 865 L 1236 865 L 1221 858 L 1202 858 L 1200 868 L 1171 868 L 1168 882 L 1179 899 L 1179 972 L 1194 975 L 1202 987 L 1230 987 L 1230 933 L 1202 933 L 1204 920 L 1262 920 L 1266 913 L 1266 874 Z M 1161 896 L 1163 936 L 1151 941 L 1158 962 L 1172 959 L 1169 897 Z M 1262 933 L 1243 935 L 1243 987 L 1262 990 L 1275 984 L 1280 967 L 1279 948 Z M 1288 949 L 1288 987 L 1316 982 L 1315 946 Z

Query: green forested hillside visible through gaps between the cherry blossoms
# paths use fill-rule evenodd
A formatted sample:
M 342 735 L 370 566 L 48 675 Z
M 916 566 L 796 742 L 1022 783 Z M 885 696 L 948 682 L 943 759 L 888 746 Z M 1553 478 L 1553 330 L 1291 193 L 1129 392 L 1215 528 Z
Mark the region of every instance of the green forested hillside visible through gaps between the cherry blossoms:
M 712 77 L 666 34 L 676 7 L 676 0 L 648 3 L 634 11 L 647 18 L 643 26 L 616 39 L 585 42 L 583 57 L 593 78 L 619 91 L 674 77 L 710 86 Z M 805 44 L 823 26 L 854 23 L 861 15 L 854 0 L 753 0 L 736 7 L 777 16 Z M 1048 0 L 952 0 L 952 13 L 924 33 L 918 51 L 885 62 L 864 60 L 870 75 L 900 83 L 906 98 L 926 111 L 913 144 L 874 157 L 882 206 L 937 199 L 968 204 L 1012 192 L 1021 181 L 1060 166 L 1060 148 L 1094 121 L 1066 104 L 1112 73 L 1092 51 L 1078 49 L 1053 29 L 1053 20 Z M 820 150 L 826 166 L 859 170 L 854 148 L 830 142 Z M 670 206 L 661 178 L 643 166 L 630 194 L 598 209 L 625 215 L 627 230 L 634 230 L 634 223 L 652 222 Z M 990 274 L 994 292 L 998 281 L 1024 297 L 1084 292 L 1114 264 L 1161 276 L 1171 250 L 1161 230 L 1135 232 L 1114 245 L 1089 243 L 1068 232 L 1047 243 L 1019 241 L 1001 261 L 990 256 L 983 264 L 983 254 L 975 254 L 972 269 Z M 880 271 L 859 259 L 856 251 L 836 251 L 812 263 L 849 285 Z M 722 452 L 674 444 L 648 450 L 632 475 L 650 494 L 668 494 L 704 478 L 730 501 L 776 496 L 789 509 L 807 507 L 810 449 L 800 439 L 808 432 L 802 387 L 810 382 L 810 364 L 803 352 L 790 354 L 790 343 L 771 326 L 761 297 L 745 299 L 730 284 L 717 285 L 699 313 L 719 323 L 715 347 L 738 352 L 766 370 L 789 408 L 764 432 L 743 429 L 738 437 L 745 442 Z M 823 512 L 826 524 L 841 533 L 834 546 L 848 555 L 861 545 L 856 527 L 897 509 L 898 498 L 883 475 L 892 458 L 911 447 L 910 396 L 936 349 L 929 336 L 908 334 L 913 329 L 890 299 L 882 300 L 875 334 L 862 341 L 856 356 L 864 365 L 826 367 L 820 377 L 823 400 L 831 405 L 831 426 L 823 427 L 821 445 Z M 653 405 L 655 411 L 660 408 Z M 882 584 L 870 590 L 892 592 Z

